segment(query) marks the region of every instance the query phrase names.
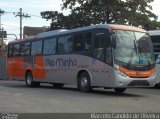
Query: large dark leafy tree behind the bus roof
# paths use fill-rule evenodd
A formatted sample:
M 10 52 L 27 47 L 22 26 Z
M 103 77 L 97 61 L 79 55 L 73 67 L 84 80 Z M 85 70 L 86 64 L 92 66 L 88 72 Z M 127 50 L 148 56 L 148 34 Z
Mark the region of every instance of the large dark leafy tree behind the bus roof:
M 76 28 L 100 23 L 141 26 L 147 30 L 158 27 L 157 16 L 149 3 L 154 0 L 62 0 L 64 15 L 57 11 L 41 12 L 42 18 L 51 19 L 51 30 Z

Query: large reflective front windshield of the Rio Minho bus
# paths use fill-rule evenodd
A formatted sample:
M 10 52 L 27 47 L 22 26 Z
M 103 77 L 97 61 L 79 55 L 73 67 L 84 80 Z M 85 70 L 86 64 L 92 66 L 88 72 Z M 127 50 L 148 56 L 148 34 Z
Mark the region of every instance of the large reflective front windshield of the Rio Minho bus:
M 155 63 L 153 47 L 146 33 L 115 30 L 115 61 L 127 65 L 152 65 Z

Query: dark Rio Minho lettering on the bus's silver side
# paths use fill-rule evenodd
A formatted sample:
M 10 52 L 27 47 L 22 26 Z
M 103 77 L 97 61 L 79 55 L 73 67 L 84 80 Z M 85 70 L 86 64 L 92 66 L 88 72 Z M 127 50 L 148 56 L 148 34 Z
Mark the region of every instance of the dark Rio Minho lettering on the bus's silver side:
M 47 67 L 75 67 L 77 66 L 77 60 L 71 59 L 71 58 L 46 59 L 46 66 Z

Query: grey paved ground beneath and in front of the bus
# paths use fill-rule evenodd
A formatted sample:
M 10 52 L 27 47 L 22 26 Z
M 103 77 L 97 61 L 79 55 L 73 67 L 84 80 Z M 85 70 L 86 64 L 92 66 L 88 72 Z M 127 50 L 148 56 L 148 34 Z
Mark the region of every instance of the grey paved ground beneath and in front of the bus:
M 0 80 L 0 112 L 160 112 L 159 103 L 160 89 L 131 88 L 120 95 L 108 89 L 82 93 L 71 86 L 28 88 L 23 81 Z

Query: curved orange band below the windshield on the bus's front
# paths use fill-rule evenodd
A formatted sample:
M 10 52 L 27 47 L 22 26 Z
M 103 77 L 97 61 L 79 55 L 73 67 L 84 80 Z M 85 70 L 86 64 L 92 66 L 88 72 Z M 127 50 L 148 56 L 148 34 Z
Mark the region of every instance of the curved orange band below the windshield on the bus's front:
M 156 68 L 153 68 L 149 71 L 134 71 L 128 70 L 124 67 L 119 67 L 119 70 L 131 78 L 148 78 L 156 72 Z

